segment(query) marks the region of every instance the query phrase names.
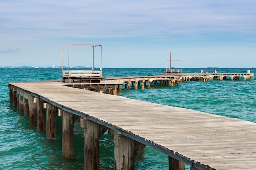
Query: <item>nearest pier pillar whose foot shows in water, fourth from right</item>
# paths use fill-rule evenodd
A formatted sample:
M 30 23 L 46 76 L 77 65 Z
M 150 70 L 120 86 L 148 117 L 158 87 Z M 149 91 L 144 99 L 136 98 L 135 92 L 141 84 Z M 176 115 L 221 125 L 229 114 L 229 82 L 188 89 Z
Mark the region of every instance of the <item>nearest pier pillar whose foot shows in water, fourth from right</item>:
M 63 111 L 62 116 L 62 156 L 74 158 L 74 119 L 67 111 Z

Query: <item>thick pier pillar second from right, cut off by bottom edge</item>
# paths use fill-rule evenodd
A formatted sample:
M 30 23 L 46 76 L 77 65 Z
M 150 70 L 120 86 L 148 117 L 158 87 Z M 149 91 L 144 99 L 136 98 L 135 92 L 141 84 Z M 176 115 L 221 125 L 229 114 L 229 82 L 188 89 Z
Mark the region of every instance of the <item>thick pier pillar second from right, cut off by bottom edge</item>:
M 134 140 L 123 135 L 115 135 L 115 170 L 133 170 L 134 160 Z

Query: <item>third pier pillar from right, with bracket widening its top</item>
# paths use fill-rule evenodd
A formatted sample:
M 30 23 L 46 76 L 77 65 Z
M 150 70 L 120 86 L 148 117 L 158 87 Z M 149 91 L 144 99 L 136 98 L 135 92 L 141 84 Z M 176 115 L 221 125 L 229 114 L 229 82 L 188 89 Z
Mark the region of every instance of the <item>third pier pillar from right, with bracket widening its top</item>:
M 84 170 L 99 170 L 99 138 L 107 128 L 91 120 L 82 118 L 84 128 Z

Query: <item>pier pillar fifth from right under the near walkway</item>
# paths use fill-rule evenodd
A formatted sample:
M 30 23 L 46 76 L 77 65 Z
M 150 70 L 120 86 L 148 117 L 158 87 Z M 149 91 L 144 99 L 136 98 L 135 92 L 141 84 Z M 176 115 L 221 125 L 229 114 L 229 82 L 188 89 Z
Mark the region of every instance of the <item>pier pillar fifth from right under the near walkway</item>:
M 57 117 L 57 107 L 54 105 L 51 105 L 50 103 L 45 103 L 45 109 L 46 109 L 46 139 L 50 139 L 53 137 L 56 137 L 57 133 L 57 123 L 56 123 L 56 117 Z

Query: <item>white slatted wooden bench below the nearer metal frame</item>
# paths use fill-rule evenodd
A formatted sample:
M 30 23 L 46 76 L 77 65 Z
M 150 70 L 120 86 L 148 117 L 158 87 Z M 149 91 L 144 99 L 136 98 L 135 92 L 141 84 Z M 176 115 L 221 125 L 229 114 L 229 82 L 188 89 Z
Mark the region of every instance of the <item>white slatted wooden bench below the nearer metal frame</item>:
M 65 82 L 66 79 L 69 80 L 69 83 L 72 81 L 79 80 L 81 81 L 90 81 L 101 83 L 102 79 L 101 70 L 63 70 L 62 72 L 62 81 Z

